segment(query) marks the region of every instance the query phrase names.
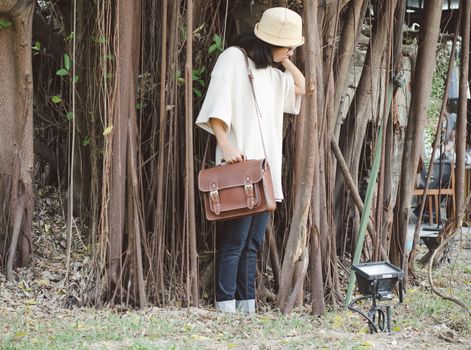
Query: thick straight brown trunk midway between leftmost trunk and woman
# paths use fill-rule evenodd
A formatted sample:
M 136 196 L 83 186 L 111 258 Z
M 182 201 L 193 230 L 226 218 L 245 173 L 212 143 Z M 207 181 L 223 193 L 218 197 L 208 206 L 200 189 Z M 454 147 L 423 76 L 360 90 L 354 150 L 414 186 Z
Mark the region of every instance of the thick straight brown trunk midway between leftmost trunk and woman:
M 139 38 L 140 38 L 140 18 L 141 9 L 140 2 L 130 2 L 125 0 L 118 1 L 117 9 L 117 26 L 116 26 L 116 77 L 115 87 L 112 97 L 112 131 L 106 135 L 112 145 L 111 173 L 110 173 L 110 189 L 109 189 L 109 232 L 108 232 L 108 276 L 110 287 L 115 291 L 120 290 L 120 284 L 123 282 L 124 269 L 124 240 L 125 229 L 129 229 L 133 235 L 130 242 L 140 244 L 135 241 L 137 234 L 135 232 L 135 222 L 138 220 L 134 216 L 137 215 L 137 208 L 131 209 L 127 206 L 133 206 L 128 198 L 135 199 L 136 191 L 131 186 L 126 186 L 127 176 L 131 177 L 131 163 L 128 163 L 128 152 L 136 152 L 128 150 L 128 145 L 133 144 L 130 134 L 130 128 L 135 125 L 136 119 L 136 90 L 137 90 L 137 73 L 139 67 Z M 134 162 L 133 162 L 134 163 Z M 135 164 L 135 163 L 134 163 Z M 128 174 L 129 172 L 129 174 Z M 129 193 L 127 194 L 127 191 Z M 136 200 L 134 200 L 134 205 Z M 128 212 L 128 214 L 127 214 Z M 135 246 L 137 249 L 137 246 Z M 135 261 L 136 264 L 142 264 L 142 260 Z M 142 294 L 141 294 L 142 297 Z M 141 304 L 144 300 L 141 299 Z

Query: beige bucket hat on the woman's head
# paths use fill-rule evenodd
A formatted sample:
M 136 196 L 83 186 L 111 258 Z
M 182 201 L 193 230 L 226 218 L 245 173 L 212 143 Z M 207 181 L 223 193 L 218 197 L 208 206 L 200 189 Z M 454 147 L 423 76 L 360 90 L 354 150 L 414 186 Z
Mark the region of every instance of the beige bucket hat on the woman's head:
M 296 47 L 304 44 L 302 27 L 302 18 L 296 12 L 285 7 L 273 7 L 263 12 L 254 33 L 269 44 Z

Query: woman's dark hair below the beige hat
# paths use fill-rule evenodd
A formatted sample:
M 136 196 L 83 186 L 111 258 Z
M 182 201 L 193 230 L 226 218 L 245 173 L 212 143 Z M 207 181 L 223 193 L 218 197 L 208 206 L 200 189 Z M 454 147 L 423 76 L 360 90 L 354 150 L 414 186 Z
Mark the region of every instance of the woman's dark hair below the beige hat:
M 231 46 L 240 46 L 247 51 L 247 55 L 254 61 L 255 67 L 258 69 L 267 68 L 274 64 L 272 50 L 276 46 L 260 40 L 253 32 L 238 35 Z

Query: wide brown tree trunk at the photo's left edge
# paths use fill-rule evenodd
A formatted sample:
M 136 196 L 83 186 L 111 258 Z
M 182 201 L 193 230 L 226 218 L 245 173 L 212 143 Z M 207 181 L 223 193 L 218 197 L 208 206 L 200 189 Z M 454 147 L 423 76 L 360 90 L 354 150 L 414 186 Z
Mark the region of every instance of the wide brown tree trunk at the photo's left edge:
M 33 81 L 31 28 L 34 2 L 0 2 L 0 264 L 30 261 L 33 214 Z

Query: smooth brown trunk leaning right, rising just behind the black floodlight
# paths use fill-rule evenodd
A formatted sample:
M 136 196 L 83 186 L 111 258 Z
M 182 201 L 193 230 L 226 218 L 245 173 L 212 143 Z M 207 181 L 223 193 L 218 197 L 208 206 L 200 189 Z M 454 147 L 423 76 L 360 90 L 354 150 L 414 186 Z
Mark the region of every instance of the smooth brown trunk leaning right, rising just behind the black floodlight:
M 425 20 L 420 28 L 417 64 L 412 82 L 412 97 L 409 111 L 404 151 L 402 155 L 399 193 L 395 208 L 395 224 L 391 239 L 390 260 L 401 267 L 407 276 L 407 256 L 405 238 L 409 221 L 412 190 L 415 185 L 415 171 L 422 151 L 422 135 L 427 116 L 427 107 L 432 88 L 432 75 L 435 70 L 435 54 L 442 2 L 430 0 L 425 2 Z M 407 280 L 407 279 L 406 279 Z

